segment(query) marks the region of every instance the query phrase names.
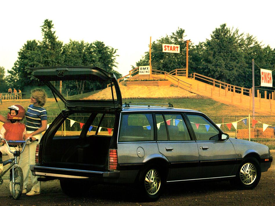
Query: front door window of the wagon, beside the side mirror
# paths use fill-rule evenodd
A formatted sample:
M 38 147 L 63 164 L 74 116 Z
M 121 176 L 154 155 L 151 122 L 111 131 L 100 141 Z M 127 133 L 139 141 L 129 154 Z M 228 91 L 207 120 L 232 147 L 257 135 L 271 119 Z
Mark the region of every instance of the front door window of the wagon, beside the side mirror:
M 197 140 L 219 140 L 219 130 L 216 129 L 206 118 L 200 115 L 189 114 L 187 117 L 193 127 Z

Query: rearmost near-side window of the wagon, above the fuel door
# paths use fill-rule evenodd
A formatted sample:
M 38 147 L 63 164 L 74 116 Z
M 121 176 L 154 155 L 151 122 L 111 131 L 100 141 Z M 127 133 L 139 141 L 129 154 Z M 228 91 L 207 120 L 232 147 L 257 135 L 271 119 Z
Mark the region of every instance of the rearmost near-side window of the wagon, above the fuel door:
M 141 142 L 154 140 L 152 114 L 122 114 L 119 142 Z

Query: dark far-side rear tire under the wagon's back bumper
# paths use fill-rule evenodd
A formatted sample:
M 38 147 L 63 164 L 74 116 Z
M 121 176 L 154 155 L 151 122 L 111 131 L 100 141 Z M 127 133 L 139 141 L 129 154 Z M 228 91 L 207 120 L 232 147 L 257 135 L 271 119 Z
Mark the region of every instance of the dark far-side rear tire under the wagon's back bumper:
M 87 194 L 92 185 L 94 184 L 83 180 L 60 180 L 60 186 L 62 191 L 70 197 L 76 197 Z

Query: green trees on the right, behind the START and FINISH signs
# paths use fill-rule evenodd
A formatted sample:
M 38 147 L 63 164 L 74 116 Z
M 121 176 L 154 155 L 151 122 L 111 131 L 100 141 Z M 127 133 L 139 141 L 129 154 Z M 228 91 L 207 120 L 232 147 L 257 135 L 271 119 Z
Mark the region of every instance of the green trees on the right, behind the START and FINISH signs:
M 185 30 L 178 28 L 176 32 L 172 32 L 172 35 L 153 41 L 152 68 L 167 72 L 176 68 L 186 68 L 185 37 Z M 164 53 L 162 44 L 180 45 L 180 53 Z M 238 29 L 234 30 L 222 24 L 212 32 L 210 39 L 197 45 L 189 44 L 188 73 L 196 72 L 222 82 L 251 88 L 252 59 L 260 68 L 275 69 L 275 49 L 270 46 L 264 47 L 256 37 L 240 34 Z M 149 51 L 136 62 L 136 66 L 148 64 Z M 255 65 L 255 86 L 260 85 L 260 69 L 257 65 Z

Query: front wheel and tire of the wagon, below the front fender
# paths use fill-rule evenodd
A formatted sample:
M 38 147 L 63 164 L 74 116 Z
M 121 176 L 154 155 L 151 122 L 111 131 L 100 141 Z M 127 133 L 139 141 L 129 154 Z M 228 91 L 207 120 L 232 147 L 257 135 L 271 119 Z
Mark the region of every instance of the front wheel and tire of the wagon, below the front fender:
M 235 183 L 240 189 L 253 189 L 261 178 L 261 167 L 253 157 L 245 158 L 238 169 Z

